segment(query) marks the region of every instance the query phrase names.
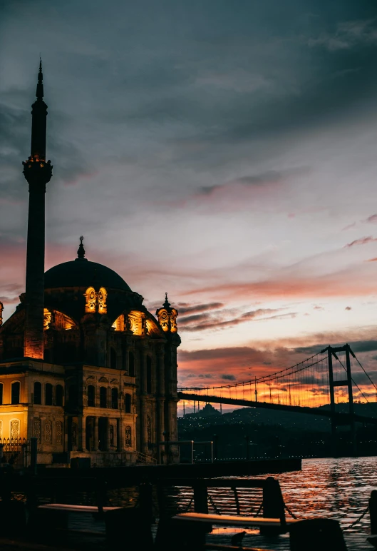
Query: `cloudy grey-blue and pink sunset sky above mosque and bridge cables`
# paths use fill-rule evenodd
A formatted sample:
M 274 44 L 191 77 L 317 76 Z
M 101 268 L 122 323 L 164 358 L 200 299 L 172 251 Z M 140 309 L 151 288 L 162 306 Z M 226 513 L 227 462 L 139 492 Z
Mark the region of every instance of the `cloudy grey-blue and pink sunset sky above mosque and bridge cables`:
M 46 269 L 83 235 L 153 313 L 167 291 L 182 386 L 345 342 L 377 383 L 375 1 L 3 0 L 4 319 L 24 290 L 40 54 Z

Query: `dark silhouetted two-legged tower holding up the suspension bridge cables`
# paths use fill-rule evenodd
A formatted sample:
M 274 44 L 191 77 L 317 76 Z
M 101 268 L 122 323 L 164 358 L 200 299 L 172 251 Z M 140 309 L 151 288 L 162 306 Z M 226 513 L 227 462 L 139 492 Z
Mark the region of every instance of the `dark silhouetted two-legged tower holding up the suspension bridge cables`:
M 348 415 L 350 418 L 350 427 L 351 427 L 351 445 L 352 453 L 356 455 L 356 425 L 355 425 L 355 416 L 353 410 L 353 393 L 352 393 L 352 378 L 351 378 L 351 360 L 350 354 L 355 358 L 350 345 L 346 344 L 344 346 L 338 346 L 336 348 L 328 346 L 324 350 L 321 350 L 321 353 L 327 352 L 328 364 L 329 364 L 329 386 L 330 386 L 330 410 L 331 410 L 331 443 L 332 443 L 332 455 L 334 458 L 338 456 L 337 454 L 337 433 L 336 433 L 336 410 L 335 410 L 335 393 L 334 388 L 338 386 L 346 386 L 348 388 Z M 334 380 L 333 372 L 333 357 L 336 360 L 339 360 L 336 355 L 337 352 L 346 353 L 346 379 Z

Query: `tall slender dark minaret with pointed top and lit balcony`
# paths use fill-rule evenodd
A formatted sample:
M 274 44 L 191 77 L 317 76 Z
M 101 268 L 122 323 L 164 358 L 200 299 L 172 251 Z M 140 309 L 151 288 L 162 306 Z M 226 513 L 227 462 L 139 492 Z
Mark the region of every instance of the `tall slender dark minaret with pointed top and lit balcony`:
M 43 101 L 41 61 L 31 117 L 31 153 L 28 161 L 22 163 L 29 183 L 24 356 L 43 360 L 45 193 L 46 183 L 51 180 L 52 166 L 51 161 L 46 163 L 47 106 Z

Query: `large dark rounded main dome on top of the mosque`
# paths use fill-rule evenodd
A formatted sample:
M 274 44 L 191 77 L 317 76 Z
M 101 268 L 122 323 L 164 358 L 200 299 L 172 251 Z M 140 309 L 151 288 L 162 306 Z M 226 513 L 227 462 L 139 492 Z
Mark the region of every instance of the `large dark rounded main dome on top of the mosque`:
M 44 275 L 45 289 L 58 287 L 105 287 L 110 289 L 128 290 L 125 280 L 103 264 L 90 262 L 86 258 L 76 258 L 74 261 L 63 262 L 53 266 Z

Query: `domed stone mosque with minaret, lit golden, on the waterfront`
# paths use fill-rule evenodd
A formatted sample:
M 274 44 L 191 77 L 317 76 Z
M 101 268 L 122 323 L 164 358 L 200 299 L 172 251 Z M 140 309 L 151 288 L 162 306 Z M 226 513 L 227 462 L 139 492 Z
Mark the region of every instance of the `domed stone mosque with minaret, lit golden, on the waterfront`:
M 38 462 L 177 462 L 178 312 L 154 317 L 115 271 L 77 258 L 44 272 L 47 106 L 39 66 L 32 105 L 26 291 L 2 323 L 0 439 L 36 438 Z M 76 248 L 76 247 L 75 247 Z M 167 450 L 165 448 L 168 448 Z

